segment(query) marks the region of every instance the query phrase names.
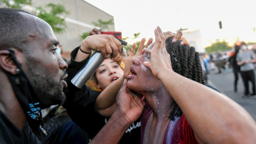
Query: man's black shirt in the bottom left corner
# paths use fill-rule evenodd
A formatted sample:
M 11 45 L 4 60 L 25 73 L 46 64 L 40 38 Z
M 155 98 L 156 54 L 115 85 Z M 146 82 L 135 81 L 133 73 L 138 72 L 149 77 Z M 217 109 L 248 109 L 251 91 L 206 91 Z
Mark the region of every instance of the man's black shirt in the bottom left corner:
M 20 131 L 0 110 L 0 143 L 41 143 L 32 130 L 25 124 L 23 130 Z

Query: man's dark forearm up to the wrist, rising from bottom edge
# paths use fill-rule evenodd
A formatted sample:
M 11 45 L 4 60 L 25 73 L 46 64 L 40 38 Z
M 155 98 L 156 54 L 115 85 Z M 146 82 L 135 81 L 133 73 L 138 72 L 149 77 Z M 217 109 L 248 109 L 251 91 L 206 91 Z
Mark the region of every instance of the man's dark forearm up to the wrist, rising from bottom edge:
M 121 113 L 114 113 L 90 143 L 118 143 L 131 123 Z

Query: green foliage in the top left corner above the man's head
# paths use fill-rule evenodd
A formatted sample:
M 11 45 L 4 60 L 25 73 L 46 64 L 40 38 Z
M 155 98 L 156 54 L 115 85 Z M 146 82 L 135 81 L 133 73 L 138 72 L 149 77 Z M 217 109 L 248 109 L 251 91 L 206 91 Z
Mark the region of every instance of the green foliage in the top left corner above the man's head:
M 23 5 L 31 5 L 32 0 L 0 0 L 0 4 L 4 4 L 8 8 L 21 9 Z

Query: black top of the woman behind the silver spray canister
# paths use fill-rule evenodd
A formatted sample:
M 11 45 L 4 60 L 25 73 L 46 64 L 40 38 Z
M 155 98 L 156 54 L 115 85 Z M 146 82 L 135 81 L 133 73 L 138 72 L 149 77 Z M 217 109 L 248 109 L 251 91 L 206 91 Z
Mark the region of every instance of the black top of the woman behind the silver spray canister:
M 84 85 L 82 89 L 78 89 L 71 83 L 71 79 L 89 59 L 88 57 L 81 62 L 74 61 L 78 50 L 79 47 L 76 47 L 76 49 L 71 52 L 71 59 L 66 69 L 68 74 L 66 79 L 68 87 L 64 92 L 66 93 L 67 100 L 63 107 L 67 109 L 71 119 L 87 132 L 90 139 L 93 139 L 106 124 L 106 118 L 94 110 L 94 103 L 100 92 L 91 90 L 90 87 L 86 85 Z M 129 127 L 120 143 L 140 143 L 140 119 Z

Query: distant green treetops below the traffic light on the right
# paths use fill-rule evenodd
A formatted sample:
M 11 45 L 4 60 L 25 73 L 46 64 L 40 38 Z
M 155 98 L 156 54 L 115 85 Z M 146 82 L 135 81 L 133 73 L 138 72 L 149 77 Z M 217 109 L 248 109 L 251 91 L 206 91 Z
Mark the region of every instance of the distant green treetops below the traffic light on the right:
M 211 46 L 205 47 L 205 51 L 207 53 L 211 52 L 217 52 L 217 51 L 227 51 L 231 50 L 232 47 L 228 46 L 228 43 L 223 41 L 223 42 L 217 42 L 212 44 Z

